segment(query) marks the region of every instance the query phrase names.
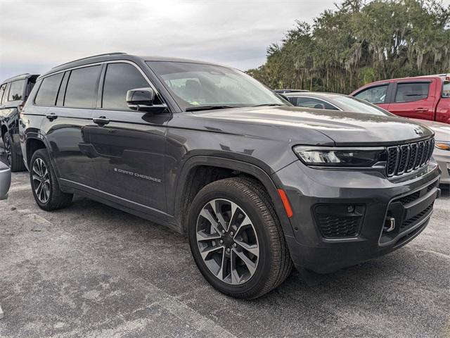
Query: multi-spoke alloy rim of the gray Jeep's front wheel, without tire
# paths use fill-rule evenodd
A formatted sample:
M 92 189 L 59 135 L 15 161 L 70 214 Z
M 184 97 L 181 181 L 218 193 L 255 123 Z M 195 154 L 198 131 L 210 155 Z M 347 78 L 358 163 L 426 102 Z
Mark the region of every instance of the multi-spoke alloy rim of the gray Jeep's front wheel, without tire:
M 255 275 L 259 244 L 243 208 L 227 199 L 203 206 L 196 225 L 198 249 L 207 268 L 227 284 L 243 284 Z

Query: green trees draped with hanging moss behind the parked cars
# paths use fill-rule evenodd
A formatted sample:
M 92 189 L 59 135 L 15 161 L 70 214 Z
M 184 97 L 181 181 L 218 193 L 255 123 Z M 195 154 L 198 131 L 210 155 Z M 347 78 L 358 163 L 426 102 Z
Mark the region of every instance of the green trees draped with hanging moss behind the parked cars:
M 450 6 L 439 0 L 345 0 L 297 21 L 248 74 L 274 89 L 349 93 L 392 77 L 450 73 Z

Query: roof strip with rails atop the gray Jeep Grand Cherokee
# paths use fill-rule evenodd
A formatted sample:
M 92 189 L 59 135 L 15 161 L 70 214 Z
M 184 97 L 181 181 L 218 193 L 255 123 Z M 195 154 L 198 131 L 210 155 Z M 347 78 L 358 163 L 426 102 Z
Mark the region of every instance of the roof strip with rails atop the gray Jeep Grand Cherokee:
M 127 61 L 176 61 L 176 62 L 188 62 L 188 63 L 205 63 L 209 65 L 217 65 L 216 63 L 206 62 L 206 61 L 198 61 L 191 60 L 187 58 L 171 58 L 164 56 L 141 56 L 141 55 L 132 55 L 124 52 L 113 52 L 106 54 L 98 54 L 94 56 L 87 56 L 86 58 L 79 58 L 74 61 L 70 61 L 67 63 L 63 63 L 57 65 L 56 67 L 51 68 L 48 72 L 44 73 L 42 76 L 49 75 L 51 73 L 57 73 L 61 70 L 65 70 L 68 68 L 75 68 L 82 65 L 89 65 L 91 63 L 101 63 L 105 61 L 115 61 L 115 60 L 127 60 Z

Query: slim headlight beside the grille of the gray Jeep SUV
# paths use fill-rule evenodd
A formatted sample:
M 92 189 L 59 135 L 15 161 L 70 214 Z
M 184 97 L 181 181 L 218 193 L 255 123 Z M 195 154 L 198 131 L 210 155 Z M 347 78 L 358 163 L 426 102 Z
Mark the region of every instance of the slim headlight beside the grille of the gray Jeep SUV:
M 386 161 L 385 147 L 321 147 L 295 146 L 298 158 L 306 165 L 321 167 L 372 167 L 375 163 Z

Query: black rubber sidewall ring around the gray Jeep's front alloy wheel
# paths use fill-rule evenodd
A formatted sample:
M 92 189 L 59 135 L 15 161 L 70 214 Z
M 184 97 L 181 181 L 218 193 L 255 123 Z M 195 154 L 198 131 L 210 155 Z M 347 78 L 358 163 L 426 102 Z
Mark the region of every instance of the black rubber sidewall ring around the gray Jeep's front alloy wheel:
M 210 189 L 208 189 L 208 187 L 200 190 L 198 195 L 195 197 L 193 204 L 191 205 L 191 212 L 189 213 L 188 237 L 194 261 L 205 279 L 224 294 L 249 294 L 248 296 L 251 296 L 252 293 L 256 294 L 266 284 L 266 280 L 270 275 L 271 269 L 271 244 L 267 228 L 264 227 L 265 220 L 262 217 L 262 214 L 259 212 L 257 206 L 255 206 L 252 201 L 246 198 L 245 194 L 243 194 L 243 192 L 240 192 L 239 189 L 222 184 L 218 189 L 214 189 L 213 191 L 209 190 Z M 253 223 L 253 226 L 255 227 L 255 232 L 257 234 L 259 244 L 259 261 L 257 270 L 255 271 L 255 275 L 253 275 L 250 280 L 248 280 L 248 282 L 245 282 L 243 284 L 232 285 L 219 280 L 212 274 L 209 268 L 207 268 L 207 265 L 200 255 L 200 250 L 198 249 L 196 239 L 198 215 L 203 206 L 205 206 L 205 204 L 207 204 L 207 202 L 211 201 L 212 199 L 228 199 L 229 201 L 233 201 L 234 203 L 238 204 L 238 206 L 240 206 L 240 208 L 242 208 L 243 211 L 248 215 Z

